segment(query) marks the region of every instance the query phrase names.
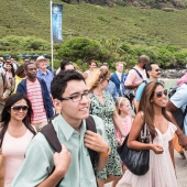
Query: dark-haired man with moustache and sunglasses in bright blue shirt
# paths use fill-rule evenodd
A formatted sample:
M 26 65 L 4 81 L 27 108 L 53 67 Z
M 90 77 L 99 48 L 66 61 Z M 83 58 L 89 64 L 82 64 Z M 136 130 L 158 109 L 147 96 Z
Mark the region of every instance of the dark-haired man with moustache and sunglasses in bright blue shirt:
M 136 111 L 139 111 L 139 103 L 140 103 L 140 100 L 141 100 L 141 97 L 142 97 L 142 92 L 144 90 L 145 85 L 147 82 L 151 82 L 151 81 L 158 81 L 158 78 L 161 78 L 161 68 L 154 62 L 147 63 L 145 65 L 145 73 L 146 73 L 147 79 L 145 81 L 143 81 L 138 87 L 138 90 L 136 90 L 136 96 L 135 96 L 135 98 L 136 98 Z

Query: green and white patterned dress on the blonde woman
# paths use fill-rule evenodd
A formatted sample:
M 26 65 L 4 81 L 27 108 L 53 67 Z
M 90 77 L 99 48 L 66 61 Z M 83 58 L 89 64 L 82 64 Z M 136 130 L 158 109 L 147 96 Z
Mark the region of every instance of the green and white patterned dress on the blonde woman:
M 109 146 L 110 146 L 110 155 L 109 161 L 106 167 L 97 173 L 97 177 L 99 179 L 107 179 L 107 176 L 122 176 L 122 167 L 121 167 L 121 160 L 117 152 L 117 138 L 114 134 L 114 124 L 112 121 L 112 114 L 114 112 L 114 101 L 112 96 L 107 92 L 102 91 L 105 105 L 101 105 L 100 101 L 96 96 L 91 97 L 90 103 L 90 114 L 95 114 L 100 117 L 103 120 Z

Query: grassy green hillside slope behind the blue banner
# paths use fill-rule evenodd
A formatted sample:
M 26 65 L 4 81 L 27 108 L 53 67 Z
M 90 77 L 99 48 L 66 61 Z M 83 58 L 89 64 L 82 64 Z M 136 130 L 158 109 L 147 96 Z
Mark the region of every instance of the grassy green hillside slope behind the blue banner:
M 34 35 L 50 42 L 48 0 L 0 0 L 0 37 Z M 55 2 L 61 2 L 56 0 Z M 133 7 L 99 7 L 64 3 L 64 37 L 121 37 L 136 45 L 158 46 L 165 42 L 187 48 L 187 10 L 165 12 Z

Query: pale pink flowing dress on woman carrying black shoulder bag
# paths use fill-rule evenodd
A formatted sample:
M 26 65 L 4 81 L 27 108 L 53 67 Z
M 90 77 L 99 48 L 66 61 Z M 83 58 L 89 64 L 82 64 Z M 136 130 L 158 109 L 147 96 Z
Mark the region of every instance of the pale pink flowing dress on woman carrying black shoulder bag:
M 155 154 L 150 150 L 150 169 L 143 176 L 127 170 L 119 187 L 177 187 L 177 179 L 168 150 L 168 142 L 174 138 L 176 127 L 169 122 L 167 131 L 162 134 L 158 129 L 153 143 L 163 146 L 163 154 Z

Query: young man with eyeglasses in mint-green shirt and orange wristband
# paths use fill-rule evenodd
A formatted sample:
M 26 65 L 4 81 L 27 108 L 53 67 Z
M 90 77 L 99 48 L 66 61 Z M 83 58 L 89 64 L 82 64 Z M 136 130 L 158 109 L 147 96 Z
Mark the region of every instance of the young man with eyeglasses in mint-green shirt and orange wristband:
M 92 94 L 88 91 L 82 75 L 75 70 L 54 77 L 51 89 L 54 107 L 61 109 L 52 125 L 62 143 L 62 152 L 54 153 L 44 135 L 37 133 L 28 146 L 12 187 L 52 187 L 58 183 L 63 187 L 97 187 L 88 148 L 99 153 L 97 170 L 105 167 L 110 148 L 100 118 L 92 116 L 97 133 L 86 130 L 85 119 L 89 116 Z

